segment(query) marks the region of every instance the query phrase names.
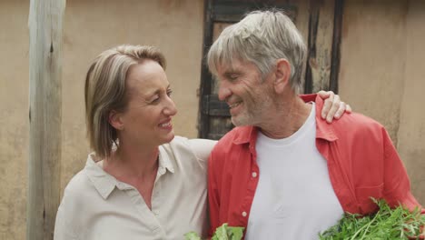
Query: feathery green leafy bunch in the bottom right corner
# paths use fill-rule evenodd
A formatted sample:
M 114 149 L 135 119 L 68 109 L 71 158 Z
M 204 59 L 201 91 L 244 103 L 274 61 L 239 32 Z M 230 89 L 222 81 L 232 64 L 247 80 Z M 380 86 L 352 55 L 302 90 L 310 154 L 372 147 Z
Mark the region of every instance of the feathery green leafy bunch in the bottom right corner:
M 421 234 L 425 216 L 417 208 L 410 212 L 402 207 L 391 209 L 385 200 L 371 199 L 380 210 L 373 215 L 345 214 L 337 225 L 320 234 L 321 240 L 410 239 Z

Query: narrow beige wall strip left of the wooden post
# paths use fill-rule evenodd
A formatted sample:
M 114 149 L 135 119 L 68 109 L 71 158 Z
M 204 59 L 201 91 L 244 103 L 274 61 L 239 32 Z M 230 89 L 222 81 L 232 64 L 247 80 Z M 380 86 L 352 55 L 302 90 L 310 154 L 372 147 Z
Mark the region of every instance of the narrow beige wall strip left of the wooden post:
M 28 9 L 27 1 L 0 2 L 0 239 L 25 239 Z

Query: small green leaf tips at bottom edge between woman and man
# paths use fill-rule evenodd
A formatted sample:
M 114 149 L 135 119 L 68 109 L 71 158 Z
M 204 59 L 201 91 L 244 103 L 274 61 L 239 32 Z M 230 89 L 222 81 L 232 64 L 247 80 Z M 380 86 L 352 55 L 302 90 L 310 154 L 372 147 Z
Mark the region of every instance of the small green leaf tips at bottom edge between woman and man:
M 215 229 L 213 238 L 211 240 L 241 240 L 243 236 L 242 226 L 228 226 L 223 224 Z M 195 232 L 189 232 L 184 235 L 185 240 L 201 240 L 201 237 Z

